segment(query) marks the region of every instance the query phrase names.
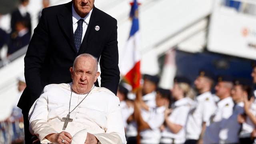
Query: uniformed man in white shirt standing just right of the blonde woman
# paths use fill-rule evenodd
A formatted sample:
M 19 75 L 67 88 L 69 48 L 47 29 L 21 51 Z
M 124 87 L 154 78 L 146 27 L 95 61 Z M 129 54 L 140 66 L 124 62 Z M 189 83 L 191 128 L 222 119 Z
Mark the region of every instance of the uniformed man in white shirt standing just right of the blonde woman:
M 194 81 L 199 95 L 188 114 L 185 144 L 196 144 L 202 140 L 206 122 L 209 122 L 210 116 L 216 110 L 216 103 L 211 93 L 213 83 L 214 74 L 212 72 L 208 70 L 199 71 L 198 77 Z

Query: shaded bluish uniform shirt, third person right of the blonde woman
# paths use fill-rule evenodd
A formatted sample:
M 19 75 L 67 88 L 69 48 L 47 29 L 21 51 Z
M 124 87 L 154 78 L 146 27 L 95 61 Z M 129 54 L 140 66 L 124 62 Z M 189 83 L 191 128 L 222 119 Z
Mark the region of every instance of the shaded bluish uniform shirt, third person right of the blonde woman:
M 220 144 L 234 144 L 239 143 L 239 130 L 241 124 L 238 123 L 237 117 L 244 113 L 244 102 L 237 103 L 233 108 L 233 114 L 228 118 L 226 123 L 221 126 L 219 138 Z

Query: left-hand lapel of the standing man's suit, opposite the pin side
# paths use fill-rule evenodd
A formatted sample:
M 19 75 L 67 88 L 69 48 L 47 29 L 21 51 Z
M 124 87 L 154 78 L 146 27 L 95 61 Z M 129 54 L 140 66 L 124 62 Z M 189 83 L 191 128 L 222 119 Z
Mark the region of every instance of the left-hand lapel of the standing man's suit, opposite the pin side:
M 74 33 L 73 33 L 73 20 L 72 20 L 72 2 L 65 4 L 66 9 L 57 15 L 60 28 L 64 32 L 70 46 L 76 52 L 76 47 L 74 43 Z M 77 52 L 76 52 L 77 53 Z

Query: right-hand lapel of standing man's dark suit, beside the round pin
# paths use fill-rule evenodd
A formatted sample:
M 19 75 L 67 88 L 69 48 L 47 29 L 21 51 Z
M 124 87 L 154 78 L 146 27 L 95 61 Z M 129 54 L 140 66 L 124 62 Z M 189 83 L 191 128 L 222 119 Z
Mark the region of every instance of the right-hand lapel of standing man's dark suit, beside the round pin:
M 95 6 L 93 7 L 92 14 L 90 17 L 90 21 L 86 30 L 86 33 L 84 35 L 84 39 L 82 41 L 82 44 L 80 46 L 80 50 L 78 52 L 79 54 L 82 54 L 85 52 L 87 46 L 88 46 L 88 40 L 92 40 L 93 36 L 90 35 L 91 31 L 94 30 L 94 27 L 97 25 L 97 23 L 100 21 L 99 16 L 98 16 L 98 8 Z

